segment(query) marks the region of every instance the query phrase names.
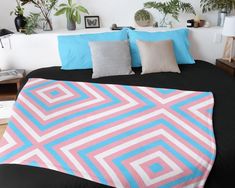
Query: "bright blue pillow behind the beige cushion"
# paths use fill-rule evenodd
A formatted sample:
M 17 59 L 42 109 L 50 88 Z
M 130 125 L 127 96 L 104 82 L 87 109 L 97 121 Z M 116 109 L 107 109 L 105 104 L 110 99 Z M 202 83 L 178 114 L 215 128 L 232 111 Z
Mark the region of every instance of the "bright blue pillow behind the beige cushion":
M 177 63 L 178 64 L 195 63 L 189 50 L 188 29 L 179 29 L 167 32 L 142 32 L 142 31 L 128 30 L 128 33 L 129 33 L 133 67 L 141 66 L 139 49 L 137 47 L 136 40 L 143 40 L 148 42 L 172 40 Z

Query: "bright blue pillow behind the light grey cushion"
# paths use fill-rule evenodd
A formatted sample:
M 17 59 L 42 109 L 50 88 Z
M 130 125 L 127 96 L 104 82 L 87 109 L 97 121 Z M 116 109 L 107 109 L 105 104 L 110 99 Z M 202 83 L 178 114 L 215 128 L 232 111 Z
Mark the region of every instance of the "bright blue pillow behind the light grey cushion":
M 92 68 L 90 41 L 128 40 L 126 30 L 118 32 L 58 36 L 58 48 L 63 70 Z M 107 52 L 108 53 L 108 52 Z

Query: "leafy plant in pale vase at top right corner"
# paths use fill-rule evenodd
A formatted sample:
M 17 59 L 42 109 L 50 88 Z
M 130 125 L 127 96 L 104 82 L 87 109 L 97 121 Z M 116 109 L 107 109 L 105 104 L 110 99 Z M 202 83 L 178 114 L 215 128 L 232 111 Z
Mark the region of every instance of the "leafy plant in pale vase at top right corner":
M 224 25 L 224 20 L 235 9 L 235 0 L 201 0 L 202 12 L 219 11 L 218 26 Z

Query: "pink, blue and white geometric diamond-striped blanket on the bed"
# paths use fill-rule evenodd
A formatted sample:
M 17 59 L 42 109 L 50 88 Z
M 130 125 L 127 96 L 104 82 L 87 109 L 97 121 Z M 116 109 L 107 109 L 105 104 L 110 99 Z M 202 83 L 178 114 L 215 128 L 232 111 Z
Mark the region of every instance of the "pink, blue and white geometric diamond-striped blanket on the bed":
M 30 79 L 0 164 L 114 187 L 203 187 L 215 160 L 213 106 L 210 92 Z

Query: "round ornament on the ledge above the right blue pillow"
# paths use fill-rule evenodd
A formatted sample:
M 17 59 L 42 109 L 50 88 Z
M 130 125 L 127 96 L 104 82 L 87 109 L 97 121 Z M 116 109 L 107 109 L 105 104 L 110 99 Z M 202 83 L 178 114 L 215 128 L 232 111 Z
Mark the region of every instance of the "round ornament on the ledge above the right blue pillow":
M 135 13 L 135 22 L 140 27 L 148 27 L 151 24 L 151 15 L 147 10 L 141 9 Z

